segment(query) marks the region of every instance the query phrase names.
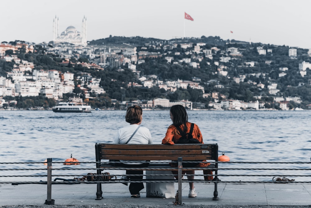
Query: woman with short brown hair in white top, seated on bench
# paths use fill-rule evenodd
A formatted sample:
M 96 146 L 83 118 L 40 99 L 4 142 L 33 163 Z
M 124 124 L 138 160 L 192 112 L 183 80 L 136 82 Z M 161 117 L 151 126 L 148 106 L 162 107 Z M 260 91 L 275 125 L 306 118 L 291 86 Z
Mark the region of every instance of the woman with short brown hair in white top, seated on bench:
M 133 105 L 131 107 L 128 107 L 125 115 L 125 121 L 130 123 L 130 125 L 125 126 L 118 130 L 118 133 L 114 138 L 113 142 L 114 144 L 152 144 L 152 138 L 149 129 L 146 127 L 139 126 L 142 123 L 142 108 L 140 106 Z M 133 134 L 134 132 L 135 134 Z M 143 161 L 121 161 L 121 162 L 123 162 L 126 166 L 144 165 L 142 164 Z M 142 175 L 143 171 L 127 170 L 126 174 Z M 130 176 L 129 179 L 142 179 L 142 176 Z M 130 183 L 128 189 L 131 193 L 131 198 L 140 197 L 139 191 L 141 191 L 143 188 L 144 188 L 143 183 Z

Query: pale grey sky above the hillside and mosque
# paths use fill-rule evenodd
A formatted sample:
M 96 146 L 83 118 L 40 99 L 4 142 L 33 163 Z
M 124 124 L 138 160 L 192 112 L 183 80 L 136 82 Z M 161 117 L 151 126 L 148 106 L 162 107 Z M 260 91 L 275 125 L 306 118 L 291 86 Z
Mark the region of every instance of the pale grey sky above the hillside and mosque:
M 49 42 L 55 16 L 59 33 L 68 26 L 81 31 L 85 16 L 88 41 L 204 35 L 311 48 L 310 0 L 5 0 L 0 7 L 0 42 Z

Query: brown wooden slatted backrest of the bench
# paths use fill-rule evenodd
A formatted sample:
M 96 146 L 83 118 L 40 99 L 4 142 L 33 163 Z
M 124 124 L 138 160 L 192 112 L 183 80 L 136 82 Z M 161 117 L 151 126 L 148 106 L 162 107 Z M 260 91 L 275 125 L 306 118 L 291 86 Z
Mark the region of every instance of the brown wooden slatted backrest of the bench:
M 218 161 L 217 144 L 95 144 L 96 161 L 112 160 L 177 160 Z

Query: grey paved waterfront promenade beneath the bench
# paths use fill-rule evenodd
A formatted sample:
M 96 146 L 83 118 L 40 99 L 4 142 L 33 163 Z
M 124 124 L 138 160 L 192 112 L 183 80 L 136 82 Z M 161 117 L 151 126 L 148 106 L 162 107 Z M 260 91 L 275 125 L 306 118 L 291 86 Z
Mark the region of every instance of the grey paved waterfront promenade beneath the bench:
M 213 201 L 214 184 L 195 184 L 197 197 L 189 198 L 183 183 L 183 207 L 309 207 L 310 183 L 219 183 L 219 200 Z M 175 184 L 175 191 L 178 184 Z M 149 198 L 146 189 L 140 198 L 130 198 L 123 184 L 103 184 L 103 199 L 95 200 L 95 184 L 52 185 L 55 207 L 176 207 L 174 198 Z M 41 207 L 47 199 L 47 185 L 0 185 L 0 207 Z

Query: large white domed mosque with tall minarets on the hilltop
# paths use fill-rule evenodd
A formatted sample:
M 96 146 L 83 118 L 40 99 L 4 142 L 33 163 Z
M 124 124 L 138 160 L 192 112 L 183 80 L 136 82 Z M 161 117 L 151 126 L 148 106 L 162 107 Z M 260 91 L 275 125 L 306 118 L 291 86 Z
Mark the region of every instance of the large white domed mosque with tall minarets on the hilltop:
M 74 26 L 69 26 L 60 35 L 58 33 L 58 17 L 53 20 L 54 43 L 72 43 L 74 45 L 87 45 L 86 41 L 86 17 L 82 20 L 82 32 L 77 31 Z

